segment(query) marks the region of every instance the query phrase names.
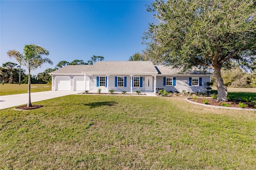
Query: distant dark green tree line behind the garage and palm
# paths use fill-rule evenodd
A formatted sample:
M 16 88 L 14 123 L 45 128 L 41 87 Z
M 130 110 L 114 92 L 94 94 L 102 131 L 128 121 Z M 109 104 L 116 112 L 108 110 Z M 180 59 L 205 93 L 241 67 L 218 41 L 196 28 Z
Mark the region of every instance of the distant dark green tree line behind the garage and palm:
M 38 73 L 37 75 L 30 75 L 30 80 L 32 84 L 51 84 L 52 83 L 52 76 L 49 75 L 50 72 L 65 67 L 66 65 L 92 65 L 96 61 L 103 61 L 104 57 L 102 56 L 95 56 L 91 57 L 91 60 L 84 62 L 83 60 L 75 59 L 72 62 L 68 61 L 60 61 L 55 68 L 48 68 L 44 70 L 42 73 Z M 21 72 L 20 72 L 21 71 Z M 20 69 L 20 65 L 17 63 L 6 62 L 2 64 L 0 67 L 0 83 L 19 83 L 19 72 L 21 73 L 20 76 L 20 83 L 28 84 L 28 74 L 26 74 L 25 69 Z

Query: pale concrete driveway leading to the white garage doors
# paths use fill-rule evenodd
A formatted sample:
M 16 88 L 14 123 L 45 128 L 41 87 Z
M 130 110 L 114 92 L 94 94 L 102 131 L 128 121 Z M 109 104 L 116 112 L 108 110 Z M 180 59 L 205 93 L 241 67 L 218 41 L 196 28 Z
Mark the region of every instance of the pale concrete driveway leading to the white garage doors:
M 31 103 L 81 93 L 82 91 L 41 91 L 31 93 Z M 28 103 L 28 93 L 0 96 L 0 109 L 25 105 Z

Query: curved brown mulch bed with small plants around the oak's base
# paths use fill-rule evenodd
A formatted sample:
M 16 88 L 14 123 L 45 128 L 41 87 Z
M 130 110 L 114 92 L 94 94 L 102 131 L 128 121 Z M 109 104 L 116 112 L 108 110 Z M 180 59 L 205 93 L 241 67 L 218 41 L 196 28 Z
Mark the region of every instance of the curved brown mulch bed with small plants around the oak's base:
M 196 103 L 202 103 L 204 104 L 203 102 L 203 99 L 202 98 L 198 98 L 198 101 L 196 101 L 195 99 L 189 99 L 190 101 L 194 101 Z M 227 104 L 230 104 L 229 107 L 237 107 L 237 108 L 240 108 L 238 106 L 238 103 L 239 102 L 242 102 L 242 101 L 239 101 L 239 100 L 229 100 L 229 101 L 225 101 L 225 102 L 220 102 L 220 101 L 217 101 L 216 99 L 208 99 L 207 100 L 209 101 L 208 105 L 212 105 L 212 106 L 222 106 L 221 103 L 227 103 Z M 244 107 L 245 109 L 255 109 L 253 108 L 253 105 L 251 102 L 242 102 L 244 104 L 247 104 L 248 107 Z

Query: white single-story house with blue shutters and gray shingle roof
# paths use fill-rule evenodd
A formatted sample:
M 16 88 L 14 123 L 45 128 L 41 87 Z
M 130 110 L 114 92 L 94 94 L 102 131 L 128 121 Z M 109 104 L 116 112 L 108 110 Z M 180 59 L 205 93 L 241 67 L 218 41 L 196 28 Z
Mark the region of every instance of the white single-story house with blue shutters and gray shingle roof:
M 186 92 L 206 91 L 210 74 L 201 71 L 179 73 L 164 65 L 153 65 L 151 61 L 98 61 L 93 65 L 68 65 L 50 73 L 52 90 L 71 90 L 102 93 L 114 89 L 116 92 L 156 93 L 157 89 Z

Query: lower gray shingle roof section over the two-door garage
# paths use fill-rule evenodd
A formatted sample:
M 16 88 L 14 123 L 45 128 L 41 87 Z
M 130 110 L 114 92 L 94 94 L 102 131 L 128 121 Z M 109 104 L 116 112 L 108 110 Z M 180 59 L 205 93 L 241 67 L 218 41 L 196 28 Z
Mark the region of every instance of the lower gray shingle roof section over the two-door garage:
M 52 71 L 50 74 L 81 74 L 83 71 L 88 70 L 90 67 L 92 67 L 92 65 L 67 65 L 58 70 Z

